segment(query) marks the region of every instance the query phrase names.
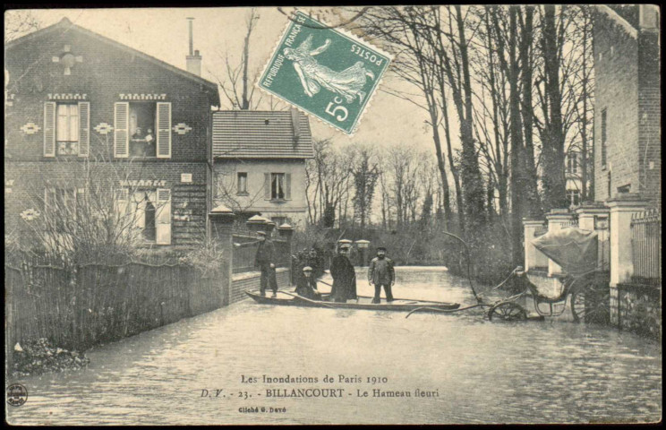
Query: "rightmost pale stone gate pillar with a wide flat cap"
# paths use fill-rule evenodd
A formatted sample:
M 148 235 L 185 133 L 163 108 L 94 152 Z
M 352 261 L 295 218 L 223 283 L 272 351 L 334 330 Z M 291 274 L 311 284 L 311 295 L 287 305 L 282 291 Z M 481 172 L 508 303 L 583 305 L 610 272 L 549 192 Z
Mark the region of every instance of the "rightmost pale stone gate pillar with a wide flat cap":
M 634 274 L 631 217 L 645 211 L 647 204 L 637 193 L 619 193 L 606 201 L 610 210 L 610 323 L 613 325 L 619 325 L 618 284 L 630 280 Z

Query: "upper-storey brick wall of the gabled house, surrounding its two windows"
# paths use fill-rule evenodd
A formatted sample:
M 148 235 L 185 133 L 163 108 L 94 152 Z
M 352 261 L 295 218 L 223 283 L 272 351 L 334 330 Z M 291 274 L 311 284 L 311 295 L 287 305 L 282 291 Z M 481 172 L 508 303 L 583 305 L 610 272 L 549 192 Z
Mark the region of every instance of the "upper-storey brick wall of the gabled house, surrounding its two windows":
M 69 46 L 81 63 L 64 75 L 62 63 L 53 57 Z M 5 49 L 5 68 L 10 73 L 7 92 L 13 95 L 5 117 L 5 154 L 13 159 L 43 159 L 44 103 L 49 94 L 86 94 L 90 101 L 90 155 L 112 155 L 113 132 L 95 130 L 101 123 L 114 125 L 114 103 L 120 94 L 166 94 L 172 104 L 172 126 L 184 123 L 192 130 L 172 133 L 172 160 L 205 161 L 209 141 L 210 90 L 181 74 L 112 46 L 76 30 L 50 31 Z M 212 98 L 214 99 L 214 98 Z M 34 123 L 37 133 L 26 134 L 21 126 Z M 167 163 L 168 159 L 159 159 Z

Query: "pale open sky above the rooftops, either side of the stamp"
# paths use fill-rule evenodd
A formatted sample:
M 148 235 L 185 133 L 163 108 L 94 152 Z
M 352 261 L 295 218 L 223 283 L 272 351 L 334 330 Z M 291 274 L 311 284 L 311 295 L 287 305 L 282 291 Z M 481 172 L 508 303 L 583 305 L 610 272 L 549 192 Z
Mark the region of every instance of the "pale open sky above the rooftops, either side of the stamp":
M 194 49 L 203 57 L 201 75 L 218 82 L 224 78 L 226 56 L 232 64 L 239 64 L 246 30 L 245 20 L 249 8 L 162 8 L 162 9 L 53 9 L 35 10 L 33 15 L 42 28 L 67 17 L 81 27 L 95 31 L 110 39 L 155 56 L 166 63 L 185 69 L 188 53 L 188 24 L 194 18 Z M 251 76 L 258 76 L 276 47 L 289 22 L 276 8 L 259 8 L 260 19 L 250 40 Z M 393 144 L 414 145 L 434 155 L 430 127 L 425 124 L 426 112 L 414 104 L 397 99 L 383 91 L 395 78 L 385 78 L 380 90 L 371 99 L 371 105 L 352 137 L 334 130 L 311 117 L 315 139 L 331 138 L 337 145 L 370 143 L 379 147 Z M 252 85 L 254 82 L 252 82 Z M 259 90 L 256 90 L 259 91 Z M 223 108 L 226 99 L 221 94 Z M 226 105 L 226 108 L 230 108 Z

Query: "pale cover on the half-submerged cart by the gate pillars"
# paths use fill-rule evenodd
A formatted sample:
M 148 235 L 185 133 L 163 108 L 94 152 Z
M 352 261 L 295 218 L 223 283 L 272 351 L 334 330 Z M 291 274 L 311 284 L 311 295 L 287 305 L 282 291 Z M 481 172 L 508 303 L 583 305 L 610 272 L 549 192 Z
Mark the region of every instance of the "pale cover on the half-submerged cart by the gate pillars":
M 597 234 L 593 231 L 562 228 L 535 238 L 532 245 L 557 262 L 565 273 L 576 275 L 596 269 Z

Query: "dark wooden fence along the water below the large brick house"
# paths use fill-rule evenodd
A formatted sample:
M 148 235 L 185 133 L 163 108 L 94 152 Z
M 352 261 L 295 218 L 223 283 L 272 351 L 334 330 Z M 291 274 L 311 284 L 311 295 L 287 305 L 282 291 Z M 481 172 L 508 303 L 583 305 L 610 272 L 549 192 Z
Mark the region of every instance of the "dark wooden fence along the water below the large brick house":
M 226 264 L 226 263 L 225 263 Z M 224 268 L 5 262 L 6 342 L 47 338 L 85 349 L 226 305 Z

